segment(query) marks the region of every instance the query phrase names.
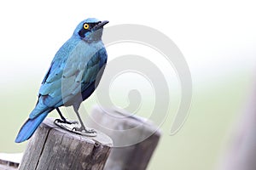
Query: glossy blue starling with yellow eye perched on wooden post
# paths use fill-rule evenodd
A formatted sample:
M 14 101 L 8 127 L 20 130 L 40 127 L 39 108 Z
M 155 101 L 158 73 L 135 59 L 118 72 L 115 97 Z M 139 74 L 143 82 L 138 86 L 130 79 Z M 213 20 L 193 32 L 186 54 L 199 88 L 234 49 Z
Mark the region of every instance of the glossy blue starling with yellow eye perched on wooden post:
M 62 116 L 59 107 L 73 106 L 80 130 L 90 133 L 79 116 L 79 106 L 92 94 L 97 80 L 107 63 L 108 55 L 102 42 L 103 26 L 108 20 L 94 18 L 83 20 L 55 54 L 38 93 L 38 103 L 20 128 L 15 142 L 30 139 L 50 111 L 58 111 L 58 122 L 71 124 Z

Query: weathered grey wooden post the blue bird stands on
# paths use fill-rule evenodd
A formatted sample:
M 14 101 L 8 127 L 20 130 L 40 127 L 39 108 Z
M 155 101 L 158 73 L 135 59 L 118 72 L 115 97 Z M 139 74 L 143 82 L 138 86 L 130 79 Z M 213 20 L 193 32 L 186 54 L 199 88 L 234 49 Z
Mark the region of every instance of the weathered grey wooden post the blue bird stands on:
M 84 137 L 68 132 L 46 118 L 27 144 L 20 170 L 101 170 L 113 145 L 104 133 Z

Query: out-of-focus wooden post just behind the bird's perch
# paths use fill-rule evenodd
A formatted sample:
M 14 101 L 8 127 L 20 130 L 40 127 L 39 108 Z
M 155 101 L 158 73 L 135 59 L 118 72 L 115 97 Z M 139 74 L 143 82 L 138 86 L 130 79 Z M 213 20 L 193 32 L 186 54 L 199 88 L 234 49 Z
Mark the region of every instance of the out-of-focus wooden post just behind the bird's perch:
M 113 139 L 104 170 L 145 170 L 160 139 L 153 123 L 125 111 L 95 107 L 86 124 Z

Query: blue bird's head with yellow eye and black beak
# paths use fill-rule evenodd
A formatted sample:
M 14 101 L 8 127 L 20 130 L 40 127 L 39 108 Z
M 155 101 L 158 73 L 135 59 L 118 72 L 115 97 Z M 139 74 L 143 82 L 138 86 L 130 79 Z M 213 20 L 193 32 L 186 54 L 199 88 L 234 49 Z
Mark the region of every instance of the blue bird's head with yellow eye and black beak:
M 108 24 L 108 20 L 97 20 L 89 18 L 79 23 L 73 32 L 75 37 L 79 37 L 86 42 L 94 42 L 102 39 L 103 26 Z

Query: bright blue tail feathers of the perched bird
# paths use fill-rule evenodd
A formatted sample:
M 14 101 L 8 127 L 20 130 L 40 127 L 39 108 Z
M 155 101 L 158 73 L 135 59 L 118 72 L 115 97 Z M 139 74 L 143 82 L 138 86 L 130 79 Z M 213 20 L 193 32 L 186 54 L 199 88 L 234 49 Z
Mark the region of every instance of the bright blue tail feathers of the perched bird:
M 20 143 L 24 142 L 27 139 L 30 139 L 32 134 L 37 130 L 38 126 L 41 124 L 41 122 L 44 121 L 44 118 L 48 115 L 49 111 L 45 111 L 44 113 L 41 113 L 37 117 L 33 119 L 28 119 L 24 125 L 20 128 L 20 132 L 18 133 L 15 142 Z

